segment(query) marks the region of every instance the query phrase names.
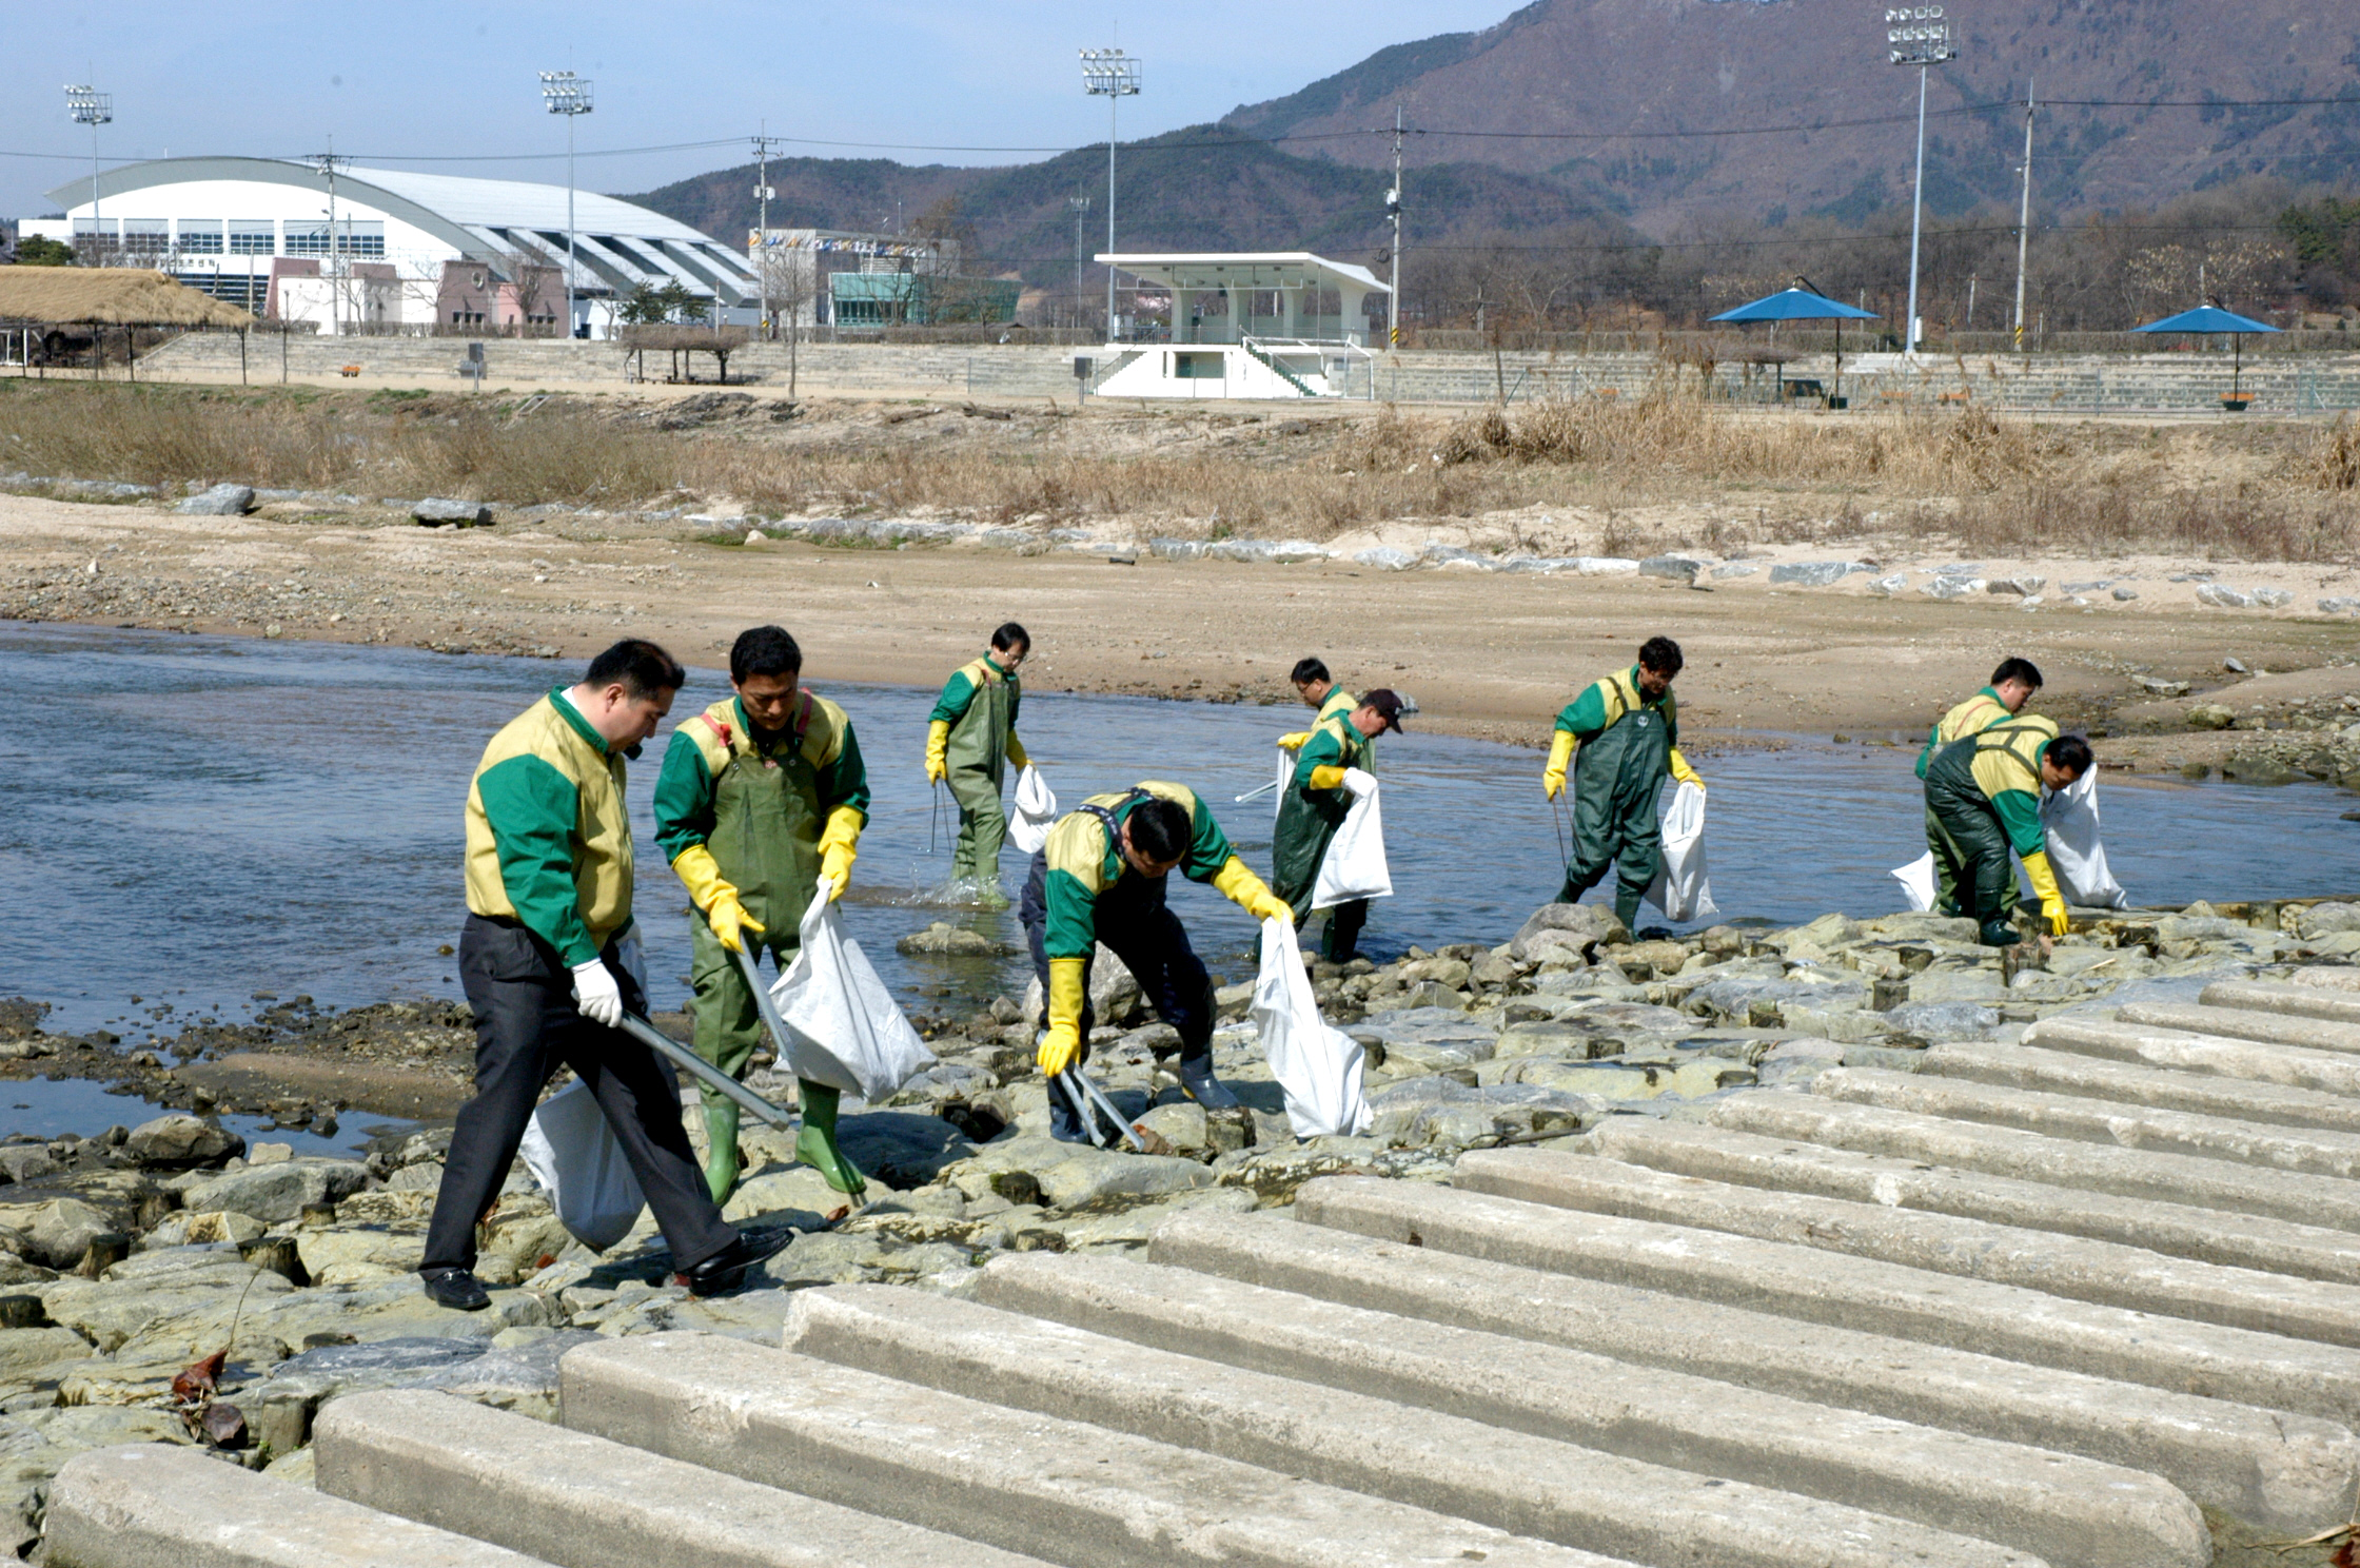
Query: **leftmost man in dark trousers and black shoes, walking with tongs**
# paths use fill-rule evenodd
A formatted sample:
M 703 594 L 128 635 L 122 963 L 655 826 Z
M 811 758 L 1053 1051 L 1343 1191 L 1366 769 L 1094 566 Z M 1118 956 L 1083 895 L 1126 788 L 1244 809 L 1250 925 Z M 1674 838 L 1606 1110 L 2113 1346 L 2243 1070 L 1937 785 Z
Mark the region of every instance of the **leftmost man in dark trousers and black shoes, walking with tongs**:
M 670 1063 L 616 1030 L 625 1011 L 647 1011 L 623 758 L 656 732 L 684 678 L 654 642 L 616 642 L 578 685 L 493 734 L 467 786 L 458 968 L 474 1011 L 474 1098 L 451 1129 L 418 1263 L 441 1306 L 491 1306 L 474 1228 L 559 1065 L 597 1098 L 691 1292 L 729 1289 L 760 1256 L 696 1171 Z

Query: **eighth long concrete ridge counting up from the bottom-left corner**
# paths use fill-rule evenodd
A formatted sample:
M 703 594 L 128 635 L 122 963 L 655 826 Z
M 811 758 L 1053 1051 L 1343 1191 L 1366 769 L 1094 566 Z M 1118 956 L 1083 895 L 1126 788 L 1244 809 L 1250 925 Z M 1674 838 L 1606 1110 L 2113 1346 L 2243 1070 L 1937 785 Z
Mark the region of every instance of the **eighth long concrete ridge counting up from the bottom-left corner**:
M 1725 1230 L 2020 1285 L 2067 1301 L 2360 1348 L 2360 1287 L 2169 1259 L 2119 1242 L 1897 1209 L 1874 1200 L 1763 1190 L 1562 1150 L 1473 1150 L 1458 1162 L 1454 1183 L 1468 1193 L 1532 1204 Z M 2072 1195 L 2060 1188 L 2058 1197 Z M 2360 1358 L 2353 1365 L 2360 1367 Z

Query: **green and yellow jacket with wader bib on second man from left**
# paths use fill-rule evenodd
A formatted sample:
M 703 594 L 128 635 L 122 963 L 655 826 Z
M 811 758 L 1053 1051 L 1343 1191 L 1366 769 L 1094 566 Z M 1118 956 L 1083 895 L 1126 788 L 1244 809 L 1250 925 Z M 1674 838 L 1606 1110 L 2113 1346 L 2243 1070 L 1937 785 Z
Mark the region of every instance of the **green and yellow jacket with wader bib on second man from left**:
M 673 730 L 656 775 L 656 843 L 666 860 L 706 845 L 765 945 L 793 947 L 840 808 L 868 822 L 868 767 L 845 711 L 800 692 L 793 720 L 765 734 L 732 697 Z

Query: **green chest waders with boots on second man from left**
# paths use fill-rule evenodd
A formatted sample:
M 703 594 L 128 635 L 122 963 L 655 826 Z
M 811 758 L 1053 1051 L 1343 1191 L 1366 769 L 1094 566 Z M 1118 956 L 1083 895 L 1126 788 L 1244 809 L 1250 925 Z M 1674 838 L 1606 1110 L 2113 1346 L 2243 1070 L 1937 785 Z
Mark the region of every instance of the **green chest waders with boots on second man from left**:
M 819 775 L 802 756 L 802 727 L 772 751 L 732 749 L 729 765 L 713 779 L 713 834 L 706 848 L 720 862 L 722 876 L 739 890 L 746 914 L 762 923 L 762 935 L 748 933 L 748 954 L 769 949 L 784 971 L 795 961 L 802 916 L 819 888 L 819 831 L 826 812 L 819 808 Z M 691 921 L 689 982 L 696 987 L 696 1053 L 734 1079 L 746 1077 L 755 1046 L 762 1041 L 762 1015 L 743 971 L 703 921 Z M 699 1086 L 706 1110 L 706 1183 L 713 1202 L 727 1202 L 736 1185 L 741 1155 L 736 1145 L 739 1105 L 729 1096 Z M 835 1148 L 835 1110 L 843 1098 L 826 1084 L 800 1082 L 802 1131 L 795 1157 L 826 1176 L 838 1193 L 859 1195 L 866 1185 L 859 1169 Z

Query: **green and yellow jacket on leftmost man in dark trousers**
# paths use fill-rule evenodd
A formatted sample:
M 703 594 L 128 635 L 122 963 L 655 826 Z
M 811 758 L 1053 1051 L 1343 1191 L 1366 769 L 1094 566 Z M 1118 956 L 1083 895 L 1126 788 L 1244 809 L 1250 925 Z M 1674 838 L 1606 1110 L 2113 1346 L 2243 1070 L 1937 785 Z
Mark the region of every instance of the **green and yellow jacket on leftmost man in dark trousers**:
M 566 968 L 630 926 L 623 756 L 562 687 L 507 720 L 474 767 L 467 909 L 519 921 Z

